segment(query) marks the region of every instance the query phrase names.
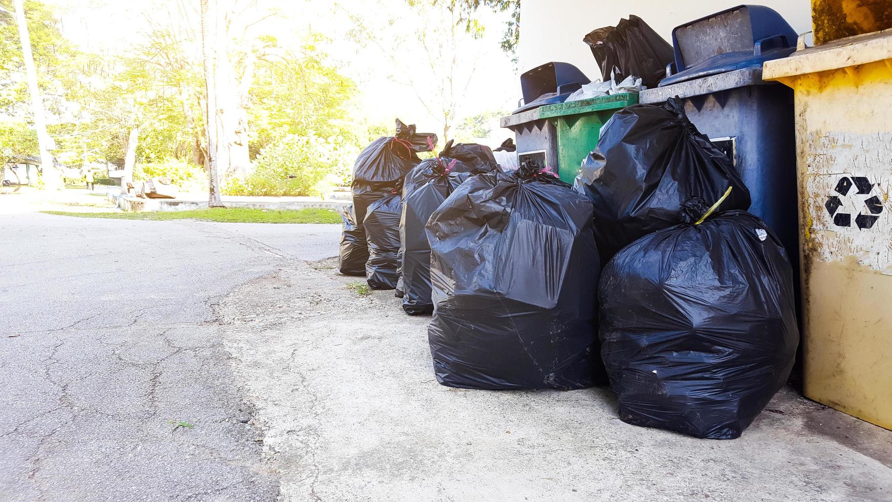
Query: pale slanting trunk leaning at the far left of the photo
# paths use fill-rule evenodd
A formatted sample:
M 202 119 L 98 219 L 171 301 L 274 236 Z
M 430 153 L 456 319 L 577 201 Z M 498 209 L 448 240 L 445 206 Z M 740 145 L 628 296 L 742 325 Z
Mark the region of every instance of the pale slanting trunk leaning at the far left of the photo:
M 31 113 L 34 114 L 34 128 L 37 129 L 37 147 L 40 149 L 40 166 L 43 169 L 44 186 L 47 190 L 62 190 L 62 176 L 55 169 L 55 158 L 50 152 L 54 148 L 53 138 L 46 132 L 44 102 L 37 86 L 37 70 L 34 68 L 34 55 L 31 53 L 31 37 L 28 32 L 28 19 L 25 17 L 23 0 L 14 0 L 15 21 L 19 25 L 21 39 L 21 59 L 25 63 L 25 78 L 31 95 Z

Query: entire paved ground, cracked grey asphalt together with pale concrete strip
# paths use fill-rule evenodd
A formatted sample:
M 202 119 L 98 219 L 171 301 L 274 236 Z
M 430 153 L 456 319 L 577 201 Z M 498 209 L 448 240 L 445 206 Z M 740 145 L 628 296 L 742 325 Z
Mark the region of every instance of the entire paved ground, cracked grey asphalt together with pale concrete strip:
M 892 499 L 892 432 L 789 389 L 716 441 L 442 387 L 338 235 L 0 215 L 0 500 Z

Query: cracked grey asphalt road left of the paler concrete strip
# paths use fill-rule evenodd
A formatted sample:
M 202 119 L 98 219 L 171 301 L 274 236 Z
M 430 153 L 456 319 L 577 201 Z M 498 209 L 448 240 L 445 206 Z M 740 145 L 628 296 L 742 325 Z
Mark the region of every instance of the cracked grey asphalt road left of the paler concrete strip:
M 339 230 L 0 215 L 0 500 L 275 500 L 213 305 Z

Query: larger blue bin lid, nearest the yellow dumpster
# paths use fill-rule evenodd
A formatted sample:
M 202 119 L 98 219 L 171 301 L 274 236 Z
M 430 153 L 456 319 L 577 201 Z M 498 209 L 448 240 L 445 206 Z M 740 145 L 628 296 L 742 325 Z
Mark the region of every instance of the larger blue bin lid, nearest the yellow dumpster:
M 674 75 L 659 86 L 726 71 L 762 68 L 789 56 L 797 34 L 780 14 L 764 5 L 738 5 L 673 29 Z

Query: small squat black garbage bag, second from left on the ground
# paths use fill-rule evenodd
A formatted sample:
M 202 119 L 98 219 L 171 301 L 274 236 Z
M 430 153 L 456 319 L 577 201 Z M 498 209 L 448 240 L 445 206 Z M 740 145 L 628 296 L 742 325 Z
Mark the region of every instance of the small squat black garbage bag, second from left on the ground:
M 368 242 L 366 282 L 373 290 L 396 289 L 400 280 L 400 187 L 368 206 L 364 225 Z

